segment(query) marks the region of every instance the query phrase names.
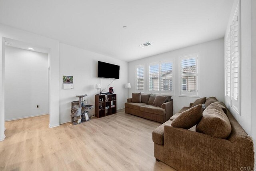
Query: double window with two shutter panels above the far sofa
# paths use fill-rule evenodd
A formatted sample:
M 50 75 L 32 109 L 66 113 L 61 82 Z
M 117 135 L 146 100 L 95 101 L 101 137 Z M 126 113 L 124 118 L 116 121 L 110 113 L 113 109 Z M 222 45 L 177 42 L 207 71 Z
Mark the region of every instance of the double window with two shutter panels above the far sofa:
M 149 64 L 148 83 L 149 93 L 174 95 L 173 62 Z

